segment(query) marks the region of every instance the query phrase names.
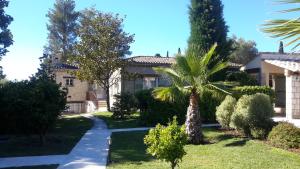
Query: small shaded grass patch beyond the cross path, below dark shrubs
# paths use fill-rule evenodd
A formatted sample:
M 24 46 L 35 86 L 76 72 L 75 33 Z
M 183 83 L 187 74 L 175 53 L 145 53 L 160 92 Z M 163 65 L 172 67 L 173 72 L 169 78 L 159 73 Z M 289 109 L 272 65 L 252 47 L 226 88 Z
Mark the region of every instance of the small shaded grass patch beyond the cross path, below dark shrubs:
M 110 129 L 141 127 L 139 125 L 138 113 L 135 113 L 130 117 L 127 117 L 126 119 L 114 119 L 112 118 L 111 112 L 98 112 L 95 113 L 94 115 L 104 120 L 107 124 L 107 127 Z

